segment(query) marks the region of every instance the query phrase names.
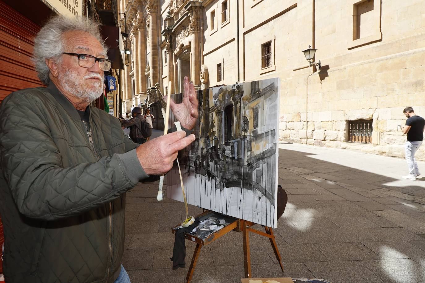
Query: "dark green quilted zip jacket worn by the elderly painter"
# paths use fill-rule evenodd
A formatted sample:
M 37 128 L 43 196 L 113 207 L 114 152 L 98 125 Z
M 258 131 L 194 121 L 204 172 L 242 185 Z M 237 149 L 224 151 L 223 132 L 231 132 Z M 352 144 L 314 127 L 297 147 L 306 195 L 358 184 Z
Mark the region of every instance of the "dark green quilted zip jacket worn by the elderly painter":
M 119 121 L 90 107 L 90 129 L 56 88 L 0 106 L 0 213 L 7 283 L 113 282 L 125 192 L 148 177 Z

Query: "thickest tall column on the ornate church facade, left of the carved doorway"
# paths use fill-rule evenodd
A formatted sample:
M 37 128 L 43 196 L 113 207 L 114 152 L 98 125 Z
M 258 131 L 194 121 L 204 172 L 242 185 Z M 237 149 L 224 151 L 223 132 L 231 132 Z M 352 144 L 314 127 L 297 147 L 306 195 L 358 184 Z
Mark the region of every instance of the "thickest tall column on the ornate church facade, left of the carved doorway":
M 149 64 L 150 64 L 150 82 L 153 87 L 159 83 L 159 65 L 158 65 L 158 27 L 157 11 L 158 6 L 155 0 L 147 0 L 147 11 L 149 12 Z

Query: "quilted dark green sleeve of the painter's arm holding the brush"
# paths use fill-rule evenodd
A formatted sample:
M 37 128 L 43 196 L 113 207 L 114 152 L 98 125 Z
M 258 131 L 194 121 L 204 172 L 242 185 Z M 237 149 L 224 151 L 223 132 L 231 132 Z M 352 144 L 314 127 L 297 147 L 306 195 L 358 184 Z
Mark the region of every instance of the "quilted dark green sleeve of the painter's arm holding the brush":
M 63 168 L 45 111 L 31 95 L 22 96 L 6 98 L 0 108 L 0 174 L 20 213 L 43 220 L 75 216 L 116 199 L 143 177 L 129 176 L 122 164 L 135 150 Z

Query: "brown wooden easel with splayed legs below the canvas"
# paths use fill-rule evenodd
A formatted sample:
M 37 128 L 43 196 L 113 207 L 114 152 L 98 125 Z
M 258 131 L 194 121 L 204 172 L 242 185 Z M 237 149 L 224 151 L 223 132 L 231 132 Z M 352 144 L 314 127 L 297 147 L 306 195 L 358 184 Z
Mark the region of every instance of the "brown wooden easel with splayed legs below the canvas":
M 199 214 L 196 217 L 205 216 L 209 213 L 219 215 L 219 213 L 215 213 L 212 211 L 204 211 L 203 213 Z M 228 217 L 228 216 L 224 216 Z M 189 271 L 187 272 L 186 276 L 186 282 L 189 283 L 190 280 L 192 280 L 193 272 L 195 271 L 196 262 L 198 261 L 199 254 L 201 253 L 201 248 L 203 246 L 206 246 L 207 244 L 212 243 L 213 241 L 217 240 L 218 238 L 221 238 L 223 235 L 226 235 L 230 231 L 236 231 L 236 232 L 242 232 L 244 237 L 244 269 L 245 269 L 245 278 L 251 278 L 251 254 L 249 249 L 249 232 L 256 233 L 258 235 L 264 236 L 269 238 L 270 244 L 272 244 L 273 251 L 275 252 L 276 258 L 279 261 L 280 268 L 283 271 L 283 265 L 282 265 L 282 258 L 280 257 L 278 246 L 276 245 L 275 241 L 275 235 L 273 235 L 273 230 L 270 227 L 264 226 L 264 229 L 266 230 L 266 233 L 261 232 L 259 230 L 253 229 L 251 226 L 255 225 L 254 222 L 246 221 L 243 219 L 234 219 L 234 221 L 231 221 L 230 224 L 225 226 L 224 228 L 218 230 L 215 233 L 212 233 L 205 239 L 197 238 L 194 235 L 190 235 L 188 233 L 184 234 L 184 238 L 186 238 L 189 241 L 193 241 L 196 243 L 195 252 L 193 252 L 192 261 L 190 263 Z M 179 225 L 176 225 L 176 227 Z M 176 233 L 175 230 L 171 230 L 173 234 Z

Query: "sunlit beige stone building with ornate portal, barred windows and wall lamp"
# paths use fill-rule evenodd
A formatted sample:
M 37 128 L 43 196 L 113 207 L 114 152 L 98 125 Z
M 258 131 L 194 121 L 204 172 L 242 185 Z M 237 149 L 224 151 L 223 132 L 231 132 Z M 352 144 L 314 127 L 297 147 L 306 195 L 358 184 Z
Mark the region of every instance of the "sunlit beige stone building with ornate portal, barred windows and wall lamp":
M 182 92 L 184 76 L 199 89 L 278 77 L 280 140 L 395 157 L 404 156 L 402 109 L 425 116 L 423 0 L 120 4 L 132 50 L 123 112 L 152 103 L 156 83 Z M 303 55 L 309 45 L 320 70 Z M 425 146 L 416 157 L 425 160 Z

